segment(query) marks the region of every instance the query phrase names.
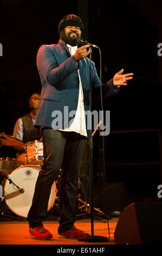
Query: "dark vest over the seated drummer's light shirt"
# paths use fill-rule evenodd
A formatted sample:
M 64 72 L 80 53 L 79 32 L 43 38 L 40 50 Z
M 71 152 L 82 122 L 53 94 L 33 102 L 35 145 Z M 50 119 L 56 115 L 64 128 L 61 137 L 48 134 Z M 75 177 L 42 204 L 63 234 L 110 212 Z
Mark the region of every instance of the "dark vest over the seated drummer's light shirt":
M 33 120 L 31 119 L 30 113 L 22 117 L 23 122 L 23 142 L 35 141 L 35 139 L 41 139 L 40 133 L 33 125 Z

